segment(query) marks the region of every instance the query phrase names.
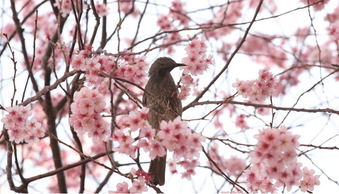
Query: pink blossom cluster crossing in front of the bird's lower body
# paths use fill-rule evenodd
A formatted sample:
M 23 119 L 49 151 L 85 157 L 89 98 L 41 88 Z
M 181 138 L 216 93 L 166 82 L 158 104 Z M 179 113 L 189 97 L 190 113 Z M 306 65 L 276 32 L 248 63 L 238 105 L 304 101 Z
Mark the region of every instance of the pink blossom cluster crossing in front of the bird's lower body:
M 129 133 L 116 130 L 112 140 L 118 142 L 119 146 L 113 150 L 136 158 L 137 149 L 142 148 L 154 160 L 156 157 L 164 156 L 167 149 L 173 152 L 173 159 L 168 162 L 170 171 L 176 173 L 176 163 L 179 163 L 185 169 L 183 178 L 190 178 L 195 174 L 194 168 L 199 164 L 197 159 L 205 137 L 200 133 L 192 133 L 180 116 L 173 121 L 162 121 L 160 130 L 156 133 L 146 120 L 148 111 L 148 108 L 143 108 L 140 112 L 131 111 L 122 121 L 123 127 L 127 128 L 129 133 L 140 129 L 139 142 L 134 145 L 135 140 Z

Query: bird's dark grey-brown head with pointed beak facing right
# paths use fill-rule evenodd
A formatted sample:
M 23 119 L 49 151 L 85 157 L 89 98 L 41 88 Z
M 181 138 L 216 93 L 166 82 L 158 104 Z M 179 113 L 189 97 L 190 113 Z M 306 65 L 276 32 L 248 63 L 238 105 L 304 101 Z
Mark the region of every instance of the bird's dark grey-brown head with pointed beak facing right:
M 178 66 L 185 66 L 184 64 L 177 64 L 169 57 L 157 58 L 151 65 L 148 71 L 148 77 L 150 78 L 161 78 L 166 77 L 170 74 L 170 71 Z

